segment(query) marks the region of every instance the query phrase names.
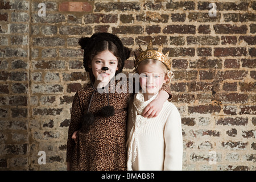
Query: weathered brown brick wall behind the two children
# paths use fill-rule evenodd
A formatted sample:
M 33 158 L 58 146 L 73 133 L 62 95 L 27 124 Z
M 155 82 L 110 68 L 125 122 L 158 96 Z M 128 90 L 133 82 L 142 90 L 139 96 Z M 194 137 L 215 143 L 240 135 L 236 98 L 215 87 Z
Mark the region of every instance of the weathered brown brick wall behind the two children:
M 88 82 L 77 40 L 106 31 L 170 50 L 184 170 L 255 170 L 256 1 L 212 2 L 216 16 L 203 0 L 1 0 L 0 169 L 66 168 L 72 98 Z

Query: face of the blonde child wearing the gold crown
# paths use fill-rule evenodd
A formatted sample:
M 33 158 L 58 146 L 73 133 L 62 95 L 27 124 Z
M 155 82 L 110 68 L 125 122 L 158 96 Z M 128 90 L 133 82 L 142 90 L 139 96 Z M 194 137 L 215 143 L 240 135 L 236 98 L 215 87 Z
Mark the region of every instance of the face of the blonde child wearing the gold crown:
M 154 63 L 148 63 L 139 69 L 139 83 L 143 93 L 154 95 L 162 88 L 163 83 L 167 81 L 163 70 Z

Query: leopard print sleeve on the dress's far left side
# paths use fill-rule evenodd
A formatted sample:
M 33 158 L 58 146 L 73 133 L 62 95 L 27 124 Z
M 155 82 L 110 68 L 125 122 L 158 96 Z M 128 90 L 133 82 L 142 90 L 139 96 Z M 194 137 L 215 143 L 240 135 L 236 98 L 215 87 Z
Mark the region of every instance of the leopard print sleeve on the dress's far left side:
M 71 122 L 68 128 L 68 142 L 67 142 L 67 162 L 71 162 L 73 149 L 75 148 L 75 141 L 71 138 L 74 131 L 77 131 L 81 127 L 80 118 L 82 115 L 82 107 L 79 100 L 78 92 L 73 98 Z

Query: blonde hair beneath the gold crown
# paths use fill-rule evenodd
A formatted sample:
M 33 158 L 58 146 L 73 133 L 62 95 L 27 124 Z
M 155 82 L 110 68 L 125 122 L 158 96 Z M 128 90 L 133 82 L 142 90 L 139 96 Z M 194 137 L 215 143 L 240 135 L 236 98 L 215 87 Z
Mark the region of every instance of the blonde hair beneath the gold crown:
M 137 69 L 135 69 L 134 73 L 138 73 L 139 69 L 142 67 L 142 65 L 145 64 L 155 64 L 156 66 L 158 66 L 159 68 L 161 68 L 163 70 L 163 72 L 166 74 L 164 77 L 168 78 L 168 80 L 164 83 L 166 85 L 171 85 L 171 80 L 172 77 L 174 77 L 174 73 L 171 70 L 168 70 L 166 65 L 163 64 L 161 61 L 155 60 L 155 59 L 146 59 L 141 61 L 141 63 L 139 63 Z

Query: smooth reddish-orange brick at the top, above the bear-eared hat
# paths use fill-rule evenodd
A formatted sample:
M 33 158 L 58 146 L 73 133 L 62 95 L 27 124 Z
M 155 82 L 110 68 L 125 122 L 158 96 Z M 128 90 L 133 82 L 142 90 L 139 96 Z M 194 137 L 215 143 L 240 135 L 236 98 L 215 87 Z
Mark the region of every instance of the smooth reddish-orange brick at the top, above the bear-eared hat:
M 60 11 L 92 12 L 93 6 L 88 2 L 62 2 L 59 5 Z

